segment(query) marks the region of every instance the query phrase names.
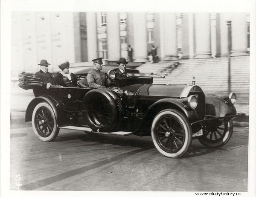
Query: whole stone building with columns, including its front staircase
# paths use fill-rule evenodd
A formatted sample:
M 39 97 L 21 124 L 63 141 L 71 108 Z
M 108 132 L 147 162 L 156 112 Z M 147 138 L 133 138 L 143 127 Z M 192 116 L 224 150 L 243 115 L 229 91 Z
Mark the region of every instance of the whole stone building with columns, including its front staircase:
M 194 75 L 206 93 L 221 95 L 230 91 L 227 21 L 231 21 L 229 81 L 231 90 L 248 104 L 249 17 L 240 12 L 12 12 L 12 81 L 22 71 L 39 70 L 41 59 L 51 64 L 49 72 L 58 71 L 58 64 L 65 61 L 74 72 L 92 66 L 97 57 L 113 65 L 120 57 L 128 58 L 131 45 L 134 62 L 128 65 L 142 64 L 141 72 L 166 75 L 154 83 L 187 84 Z M 152 45 L 157 47 L 157 64 L 148 64 Z

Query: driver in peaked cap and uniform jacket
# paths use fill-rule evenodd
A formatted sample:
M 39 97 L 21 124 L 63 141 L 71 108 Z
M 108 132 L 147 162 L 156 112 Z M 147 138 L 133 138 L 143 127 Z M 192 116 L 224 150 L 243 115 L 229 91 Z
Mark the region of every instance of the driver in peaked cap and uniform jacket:
M 87 81 L 92 88 L 106 88 L 111 85 L 111 81 L 106 78 L 105 73 L 102 70 L 102 59 L 96 58 L 93 61 L 94 69 L 90 70 L 87 74 Z

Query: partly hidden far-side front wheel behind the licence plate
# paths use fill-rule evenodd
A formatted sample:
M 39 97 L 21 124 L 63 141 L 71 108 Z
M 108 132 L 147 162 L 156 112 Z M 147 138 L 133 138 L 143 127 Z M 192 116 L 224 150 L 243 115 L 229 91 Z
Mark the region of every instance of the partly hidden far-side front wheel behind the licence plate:
M 233 133 L 233 121 L 230 119 L 228 122 L 222 124 L 212 124 L 207 127 L 207 131 L 203 136 L 198 137 L 201 144 L 218 148 L 227 144 Z

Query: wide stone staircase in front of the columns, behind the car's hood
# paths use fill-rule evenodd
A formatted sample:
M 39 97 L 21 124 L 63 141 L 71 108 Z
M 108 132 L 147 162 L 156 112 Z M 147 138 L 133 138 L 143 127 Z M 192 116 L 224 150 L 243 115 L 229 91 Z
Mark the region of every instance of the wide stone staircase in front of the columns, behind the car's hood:
M 249 104 L 250 56 L 231 58 L 231 91 L 237 95 L 238 104 Z M 154 84 L 195 84 L 206 95 L 228 94 L 228 58 L 180 60 L 177 68 L 174 62 L 143 64 L 140 72 L 155 72 L 166 78 L 154 78 Z

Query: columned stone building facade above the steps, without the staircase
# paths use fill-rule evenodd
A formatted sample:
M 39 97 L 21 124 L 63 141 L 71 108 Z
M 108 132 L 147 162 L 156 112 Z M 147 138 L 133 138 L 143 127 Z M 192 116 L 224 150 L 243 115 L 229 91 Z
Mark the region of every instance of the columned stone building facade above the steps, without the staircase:
M 65 61 L 76 67 L 128 58 L 147 62 L 151 46 L 161 61 L 220 58 L 228 55 L 227 21 L 232 26 L 231 56 L 250 51 L 248 13 L 12 13 L 12 76 L 35 72 L 41 59 L 57 71 Z M 89 63 L 90 62 L 90 63 Z

